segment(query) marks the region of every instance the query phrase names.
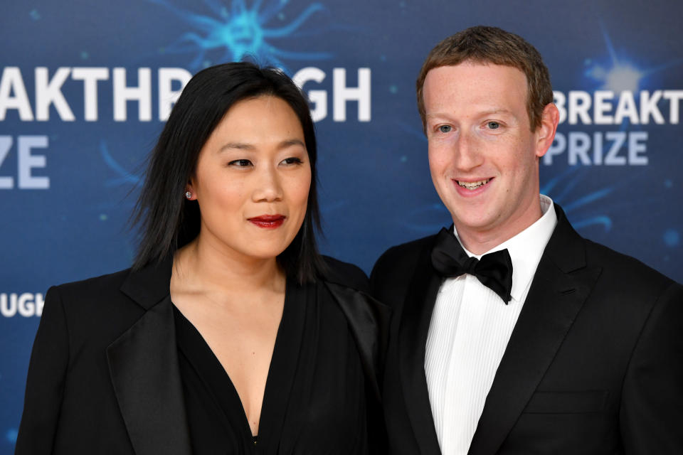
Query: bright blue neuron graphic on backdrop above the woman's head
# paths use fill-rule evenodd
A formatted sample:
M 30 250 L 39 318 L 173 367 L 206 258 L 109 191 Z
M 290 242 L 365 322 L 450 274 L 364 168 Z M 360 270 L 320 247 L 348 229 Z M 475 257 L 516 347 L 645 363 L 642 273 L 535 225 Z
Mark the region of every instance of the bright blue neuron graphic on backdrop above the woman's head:
M 314 14 L 326 11 L 324 6 L 313 3 L 299 16 L 286 23 L 285 7 L 289 0 L 255 0 L 247 6 L 245 0 L 234 0 L 226 6 L 218 0 L 203 0 L 214 16 L 204 16 L 186 11 L 166 0 L 149 0 L 164 6 L 188 23 L 194 31 L 183 33 L 174 43 L 164 48 L 166 53 L 191 53 L 194 60 L 189 68 L 197 70 L 212 64 L 208 53 L 216 63 L 255 59 L 260 65 L 274 65 L 287 71 L 283 60 L 324 60 L 331 58 L 327 52 L 294 51 L 278 48 L 272 41 L 283 38 L 314 36 L 321 33 L 320 26 L 302 26 Z M 280 22 L 275 24 L 275 22 Z

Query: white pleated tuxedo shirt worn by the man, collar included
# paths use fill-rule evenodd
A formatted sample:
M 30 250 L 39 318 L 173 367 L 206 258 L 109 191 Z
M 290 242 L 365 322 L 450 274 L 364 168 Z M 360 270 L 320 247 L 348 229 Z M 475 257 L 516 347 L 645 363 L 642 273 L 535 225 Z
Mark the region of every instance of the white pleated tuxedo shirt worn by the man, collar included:
M 557 224 L 553 201 L 540 198 L 541 218 L 487 251 L 507 248 L 512 259 L 512 299 L 507 305 L 470 274 L 445 279 L 439 288 L 427 336 L 425 375 L 443 455 L 466 455 L 470 449 L 496 370 Z

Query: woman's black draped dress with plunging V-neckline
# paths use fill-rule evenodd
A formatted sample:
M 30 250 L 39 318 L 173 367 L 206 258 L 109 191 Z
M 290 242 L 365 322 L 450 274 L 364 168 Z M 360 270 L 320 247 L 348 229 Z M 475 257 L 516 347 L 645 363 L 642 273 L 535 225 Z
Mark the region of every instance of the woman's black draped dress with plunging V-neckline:
M 324 284 L 287 282 L 257 442 L 221 363 L 175 307 L 174 315 L 195 455 L 375 452 L 368 442 L 366 395 L 371 392 L 359 350 Z

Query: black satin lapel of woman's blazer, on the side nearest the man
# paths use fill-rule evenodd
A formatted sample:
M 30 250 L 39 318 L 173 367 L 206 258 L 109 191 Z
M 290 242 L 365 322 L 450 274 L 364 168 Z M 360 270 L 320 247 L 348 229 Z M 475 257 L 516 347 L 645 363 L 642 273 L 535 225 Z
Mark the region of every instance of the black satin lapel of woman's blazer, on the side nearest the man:
M 325 282 L 325 286 L 349 322 L 366 378 L 381 400 L 379 384 L 388 344 L 391 309 L 361 291 L 331 282 Z

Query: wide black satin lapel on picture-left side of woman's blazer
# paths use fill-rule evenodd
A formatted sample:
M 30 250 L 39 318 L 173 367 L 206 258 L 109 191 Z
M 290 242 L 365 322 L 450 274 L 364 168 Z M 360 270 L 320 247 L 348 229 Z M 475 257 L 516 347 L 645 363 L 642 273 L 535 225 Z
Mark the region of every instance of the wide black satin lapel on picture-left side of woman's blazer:
M 137 455 L 190 455 L 171 297 L 107 348 L 110 375 Z

